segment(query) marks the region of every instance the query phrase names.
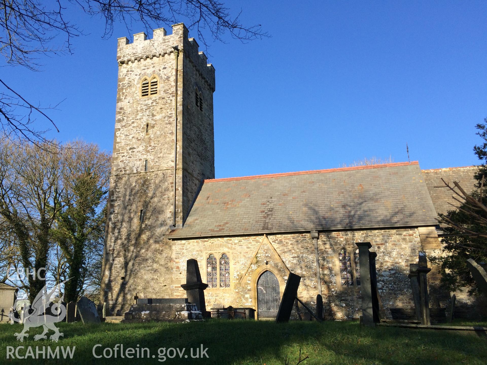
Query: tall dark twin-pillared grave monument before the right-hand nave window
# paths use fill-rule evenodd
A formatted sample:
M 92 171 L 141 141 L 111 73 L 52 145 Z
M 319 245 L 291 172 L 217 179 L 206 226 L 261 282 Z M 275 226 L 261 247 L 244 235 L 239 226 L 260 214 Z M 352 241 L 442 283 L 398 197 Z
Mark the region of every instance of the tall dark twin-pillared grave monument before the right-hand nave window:
M 379 304 L 377 298 L 377 273 L 375 271 L 375 257 L 377 254 L 369 252 L 370 242 L 357 242 L 360 260 L 360 295 L 362 297 L 362 323 L 374 326 L 380 322 Z

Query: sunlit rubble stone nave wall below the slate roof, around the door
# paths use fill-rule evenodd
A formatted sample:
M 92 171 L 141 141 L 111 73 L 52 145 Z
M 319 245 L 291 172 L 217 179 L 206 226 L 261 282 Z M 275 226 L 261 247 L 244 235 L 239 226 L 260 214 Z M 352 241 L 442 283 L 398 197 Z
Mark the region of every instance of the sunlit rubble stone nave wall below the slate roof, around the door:
M 268 235 L 267 238 L 270 244 L 262 243 L 264 236 L 174 240 L 171 260 L 173 295 L 185 296 L 179 285 L 186 278 L 187 259 L 198 260 L 202 277 L 206 281 L 206 258 L 213 254 L 219 259 L 225 253 L 230 258 L 231 285 L 229 289 L 208 288 L 205 291 L 207 308 L 228 305 L 256 308 L 257 277 L 254 274 L 262 274 L 269 269 L 278 276 L 282 286 L 287 280 L 286 267 L 302 276 L 298 296 L 309 306 L 315 307 L 318 285 L 315 251 L 310 234 Z M 409 264 L 417 262 L 418 251 L 421 249 L 417 229 L 323 232 L 319 233 L 318 253 L 327 319 L 358 318 L 361 313 L 359 287 L 342 287 L 338 266 L 340 249 L 346 248 L 353 256 L 355 242 L 359 241 L 371 242 L 371 251 L 377 252 L 377 282 L 386 310 L 412 306 L 407 275 Z M 267 260 L 267 264 L 264 260 Z M 296 313 L 293 312 L 293 315 Z

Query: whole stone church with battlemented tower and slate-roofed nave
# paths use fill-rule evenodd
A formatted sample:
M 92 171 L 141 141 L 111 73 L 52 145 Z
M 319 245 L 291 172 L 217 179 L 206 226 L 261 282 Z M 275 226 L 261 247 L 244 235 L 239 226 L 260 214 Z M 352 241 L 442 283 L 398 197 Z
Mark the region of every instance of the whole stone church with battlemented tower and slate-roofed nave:
M 474 184 L 475 167 L 418 162 L 215 179 L 215 68 L 184 24 L 118 38 L 118 85 L 101 286 L 107 315 L 139 298 L 183 298 L 197 259 L 206 308 L 277 314 L 290 272 L 324 317 L 361 315 L 357 242 L 377 253 L 386 312 L 413 306 L 409 264 L 441 250 L 435 218 L 445 181 Z M 438 283 L 437 270 L 429 274 Z M 434 292 L 431 288 L 431 292 Z M 457 297 L 458 298 L 458 297 Z M 448 301 L 449 298 L 440 298 Z M 457 299 L 458 300 L 458 299 Z

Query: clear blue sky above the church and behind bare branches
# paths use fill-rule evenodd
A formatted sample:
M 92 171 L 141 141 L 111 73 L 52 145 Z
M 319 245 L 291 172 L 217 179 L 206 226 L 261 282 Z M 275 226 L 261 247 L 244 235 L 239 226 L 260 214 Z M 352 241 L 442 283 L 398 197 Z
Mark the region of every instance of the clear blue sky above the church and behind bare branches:
M 217 178 L 372 156 L 407 161 L 406 143 L 422 168 L 477 163 L 474 126 L 487 117 L 487 1 L 225 4 L 272 37 L 210 43 Z M 117 25 L 102 39 L 101 19 L 67 16 L 88 34 L 74 39 L 74 55 L 42 58 L 38 73 L 3 67 L 1 78 L 43 106 L 66 98 L 49 111 L 61 130 L 50 136 L 111 151 L 116 38 L 144 29 Z

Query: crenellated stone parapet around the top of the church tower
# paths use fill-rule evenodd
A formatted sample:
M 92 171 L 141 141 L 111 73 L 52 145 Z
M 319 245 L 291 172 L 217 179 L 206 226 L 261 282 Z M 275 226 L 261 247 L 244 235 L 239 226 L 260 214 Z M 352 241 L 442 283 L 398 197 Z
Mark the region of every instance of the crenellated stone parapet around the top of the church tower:
M 194 38 L 188 38 L 188 30 L 183 23 L 172 25 L 172 34 L 168 35 L 164 28 L 154 29 L 152 38 L 144 33 L 133 35 L 130 43 L 127 37 L 118 38 L 117 62 L 119 66 L 142 62 L 154 57 L 164 57 L 179 52 L 185 59 L 194 64 L 197 72 L 206 80 L 210 88 L 215 90 L 215 68 L 207 63 L 204 52 L 199 51 L 199 45 Z

